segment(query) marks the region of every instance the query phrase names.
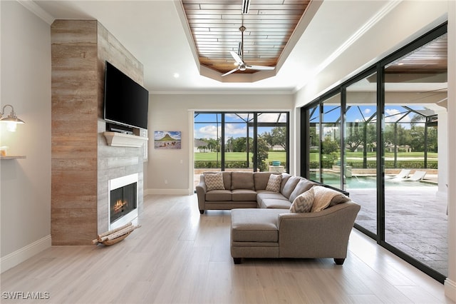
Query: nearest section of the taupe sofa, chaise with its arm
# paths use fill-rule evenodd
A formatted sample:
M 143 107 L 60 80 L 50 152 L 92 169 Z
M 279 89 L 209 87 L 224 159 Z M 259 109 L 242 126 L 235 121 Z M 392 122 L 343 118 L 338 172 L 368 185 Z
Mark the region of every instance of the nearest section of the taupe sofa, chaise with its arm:
M 234 209 L 230 244 L 234 263 L 242 258 L 333 258 L 342 265 L 360 208 L 348 201 L 314 213 Z

